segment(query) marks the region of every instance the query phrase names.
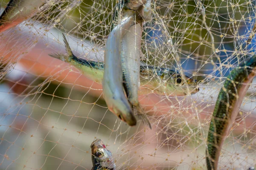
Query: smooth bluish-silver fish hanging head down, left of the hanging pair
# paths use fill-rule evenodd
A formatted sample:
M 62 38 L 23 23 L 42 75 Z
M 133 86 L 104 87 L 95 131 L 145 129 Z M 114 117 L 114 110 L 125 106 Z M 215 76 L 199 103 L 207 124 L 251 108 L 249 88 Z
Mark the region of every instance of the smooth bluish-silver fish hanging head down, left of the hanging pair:
M 104 74 L 102 79 L 103 97 L 108 109 L 130 126 L 136 125 L 137 121 L 131 106 L 123 91 L 123 76 L 121 62 L 121 40 L 128 29 L 141 21 L 139 17 L 128 17 L 111 31 L 105 45 Z

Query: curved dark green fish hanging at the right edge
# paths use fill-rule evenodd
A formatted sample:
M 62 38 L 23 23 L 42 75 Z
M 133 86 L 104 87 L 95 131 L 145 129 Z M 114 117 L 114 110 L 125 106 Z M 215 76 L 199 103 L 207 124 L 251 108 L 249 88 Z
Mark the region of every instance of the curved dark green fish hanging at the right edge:
M 217 170 L 221 147 L 230 133 L 241 102 L 253 77 L 255 77 L 255 69 L 256 55 L 234 68 L 219 92 L 207 137 L 206 161 L 208 170 Z

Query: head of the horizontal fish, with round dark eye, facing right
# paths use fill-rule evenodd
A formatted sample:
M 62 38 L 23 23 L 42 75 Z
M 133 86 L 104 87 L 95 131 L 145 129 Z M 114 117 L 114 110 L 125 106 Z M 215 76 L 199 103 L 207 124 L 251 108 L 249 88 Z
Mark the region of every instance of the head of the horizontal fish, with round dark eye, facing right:
M 162 79 L 164 80 L 164 88 L 166 88 L 166 94 L 172 96 L 185 96 L 187 94 L 196 94 L 199 91 L 198 81 L 188 76 L 185 79 L 175 71 L 166 70 L 163 73 Z

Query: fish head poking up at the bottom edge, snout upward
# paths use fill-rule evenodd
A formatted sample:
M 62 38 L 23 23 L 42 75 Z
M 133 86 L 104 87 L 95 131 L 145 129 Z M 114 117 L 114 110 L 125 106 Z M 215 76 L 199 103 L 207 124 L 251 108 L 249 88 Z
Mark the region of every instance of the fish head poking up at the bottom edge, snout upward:
M 92 150 L 92 170 L 116 170 L 112 153 L 101 139 L 94 140 L 90 148 Z

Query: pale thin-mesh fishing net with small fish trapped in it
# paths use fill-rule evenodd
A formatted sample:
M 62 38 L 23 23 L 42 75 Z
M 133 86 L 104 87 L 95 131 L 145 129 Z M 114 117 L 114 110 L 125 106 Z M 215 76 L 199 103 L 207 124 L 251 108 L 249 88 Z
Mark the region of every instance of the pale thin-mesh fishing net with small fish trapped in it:
M 8 0 L 0 0 L 1 11 Z M 254 54 L 255 0 L 156 0 L 143 25 L 143 63 L 198 80 L 186 96 L 139 96 L 152 130 L 129 127 L 108 111 L 102 86 L 49 57 L 104 60 L 116 0 L 47 0 L 43 10 L 0 33 L 0 169 L 91 169 L 90 144 L 102 139 L 116 168 L 205 170 L 207 133 L 230 71 Z M 247 42 L 248 38 L 251 42 Z M 256 82 L 224 142 L 219 169 L 256 164 Z

